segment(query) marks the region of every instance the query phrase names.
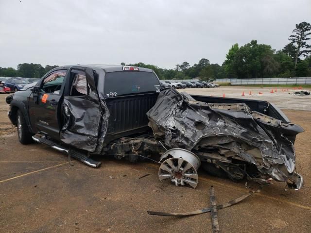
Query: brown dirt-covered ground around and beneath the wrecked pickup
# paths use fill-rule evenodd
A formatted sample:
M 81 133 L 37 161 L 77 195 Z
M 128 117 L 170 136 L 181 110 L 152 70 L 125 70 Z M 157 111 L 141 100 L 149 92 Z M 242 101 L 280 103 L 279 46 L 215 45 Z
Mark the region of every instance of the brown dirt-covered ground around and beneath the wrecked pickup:
M 221 89 L 209 89 L 190 91 L 197 91 L 195 94 L 214 91 L 213 95 L 222 95 Z M 240 93 L 241 89 L 235 91 Z M 227 95 L 238 97 L 229 96 L 229 91 Z M 149 162 L 132 164 L 94 157 L 103 162 L 98 169 L 77 161 L 70 166 L 65 154 L 42 144 L 18 142 L 16 128 L 6 115 L 5 96 L 0 95 L 0 229 L 3 233 L 212 232 L 209 213 L 174 218 L 149 216 L 146 211 L 184 212 L 208 207 L 210 185 L 215 188 L 218 204 L 250 190 L 245 188 L 245 181 L 234 183 L 209 176 L 203 170 L 199 170 L 196 189 L 175 187 L 168 181 L 160 182 L 158 165 Z M 282 107 L 286 101 L 281 95 L 280 98 L 277 105 Z M 303 98 L 299 99 L 301 104 L 310 100 Z M 285 109 L 284 113 L 305 129 L 295 142 L 296 168 L 305 179 L 304 187 L 285 191 L 284 183 L 273 182 L 260 194 L 220 210 L 218 220 L 222 232 L 311 232 L 311 112 Z M 137 179 L 144 174 L 150 175 Z M 258 187 L 250 182 L 248 186 Z

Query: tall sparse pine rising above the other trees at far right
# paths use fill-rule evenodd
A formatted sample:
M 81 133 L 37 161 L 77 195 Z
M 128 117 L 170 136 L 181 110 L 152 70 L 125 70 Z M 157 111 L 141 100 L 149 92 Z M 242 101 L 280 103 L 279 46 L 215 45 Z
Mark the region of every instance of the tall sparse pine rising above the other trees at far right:
M 290 35 L 289 40 L 293 44 L 296 44 L 296 54 L 295 54 L 295 68 L 297 67 L 298 58 L 301 55 L 308 56 L 311 52 L 311 46 L 307 44 L 307 40 L 310 40 L 308 37 L 311 34 L 311 24 L 307 22 L 301 22 L 296 24 L 295 29 L 293 30 L 293 35 Z

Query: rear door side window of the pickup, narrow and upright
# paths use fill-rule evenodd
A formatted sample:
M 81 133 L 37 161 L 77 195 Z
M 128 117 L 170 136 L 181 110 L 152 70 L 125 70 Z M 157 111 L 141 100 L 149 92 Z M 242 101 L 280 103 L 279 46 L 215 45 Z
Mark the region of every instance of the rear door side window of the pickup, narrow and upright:
M 89 85 L 86 80 L 86 73 L 81 70 L 72 70 L 70 74 L 72 80 L 70 87 L 70 96 L 88 96 Z

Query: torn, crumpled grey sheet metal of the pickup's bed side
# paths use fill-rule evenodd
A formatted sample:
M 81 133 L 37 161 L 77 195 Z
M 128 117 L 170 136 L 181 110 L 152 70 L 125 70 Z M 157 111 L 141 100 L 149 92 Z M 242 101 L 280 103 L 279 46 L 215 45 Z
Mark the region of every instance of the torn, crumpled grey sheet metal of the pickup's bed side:
M 251 111 L 245 103 L 205 103 L 167 88 L 147 116 L 155 138 L 191 150 L 232 179 L 285 182 L 294 171 L 294 139 L 303 129 Z

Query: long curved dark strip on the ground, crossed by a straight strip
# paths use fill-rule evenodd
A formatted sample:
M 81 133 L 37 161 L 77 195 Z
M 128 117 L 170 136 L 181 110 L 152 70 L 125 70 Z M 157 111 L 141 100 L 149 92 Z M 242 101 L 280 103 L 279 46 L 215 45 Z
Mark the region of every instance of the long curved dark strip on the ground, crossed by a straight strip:
M 230 201 L 225 202 L 224 204 L 221 204 L 221 205 L 217 205 L 217 210 L 221 210 L 221 209 L 227 208 L 231 205 L 235 205 L 235 204 L 241 202 L 242 200 L 252 196 L 254 193 L 259 193 L 260 191 L 261 191 L 261 186 L 256 191 L 249 191 L 248 193 L 243 194 L 242 196 L 240 196 L 236 199 L 230 200 Z M 189 212 L 184 212 L 184 213 L 181 213 L 181 212 L 179 212 L 179 213 L 157 212 L 157 211 L 149 211 L 149 210 L 147 211 L 147 213 L 149 215 L 157 215 L 157 216 L 192 216 L 192 215 L 200 215 L 203 213 L 208 213 L 210 211 L 211 211 L 211 208 L 207 207 L 207 208 L 203 208 L 201 210 L 194 210 L 194 211 L 189 211 Z

